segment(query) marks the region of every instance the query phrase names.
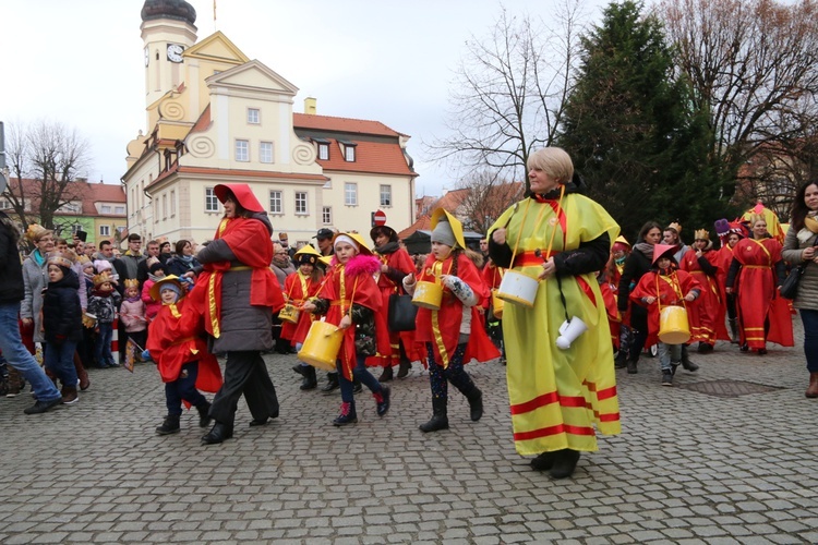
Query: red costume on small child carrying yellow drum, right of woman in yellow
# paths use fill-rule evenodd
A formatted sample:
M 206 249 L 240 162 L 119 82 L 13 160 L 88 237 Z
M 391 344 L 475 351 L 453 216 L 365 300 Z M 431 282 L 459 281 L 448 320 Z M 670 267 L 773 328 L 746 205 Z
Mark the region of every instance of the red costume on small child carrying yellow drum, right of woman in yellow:
M 687 320 L 690 320 L 690 307 L 696 301 L 683 301 L 690 290 L 701 290 L 701 284 L 684 270 L 673 270 L 670 275 L 660 275 L 655 270 L 646 272 L 636 288 L 630 292 L 630 301 L 648 308 L 648 340 L 646 347 L 661 342 L 659 340 L 660 307 L 676 305 L 688 310 Z M 699 294 L 701 296 L 701 294 Z M 645 304 L 642 298 L 657 298 L 652 304 Z M 689 327 L 689 324 L 688 324 Z

